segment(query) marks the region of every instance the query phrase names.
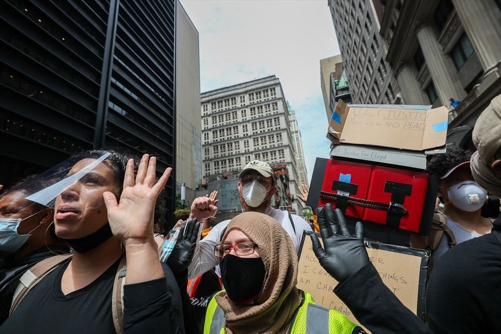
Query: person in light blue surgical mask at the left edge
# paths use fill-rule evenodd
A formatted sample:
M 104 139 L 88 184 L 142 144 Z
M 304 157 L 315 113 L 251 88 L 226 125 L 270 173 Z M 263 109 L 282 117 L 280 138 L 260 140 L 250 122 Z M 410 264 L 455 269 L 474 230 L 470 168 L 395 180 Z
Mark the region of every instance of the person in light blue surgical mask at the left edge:
M 9 316 L 19 278 L 35 263 L 70 249 L 56 236 L 54 211 L 26 199 L 40 189 L 33 177 L 0 196 L 0 324 Z

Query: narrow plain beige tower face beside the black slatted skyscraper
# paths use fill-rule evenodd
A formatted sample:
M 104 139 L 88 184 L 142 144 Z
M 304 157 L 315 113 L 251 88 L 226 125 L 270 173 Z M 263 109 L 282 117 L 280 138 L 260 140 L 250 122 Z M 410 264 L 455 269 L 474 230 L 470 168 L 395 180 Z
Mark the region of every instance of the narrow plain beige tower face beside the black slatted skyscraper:
M 198 31 L 177 1 L 176 12 L 176 192 L 186 185 L 186 203 L 202 181 L 200 53 Z

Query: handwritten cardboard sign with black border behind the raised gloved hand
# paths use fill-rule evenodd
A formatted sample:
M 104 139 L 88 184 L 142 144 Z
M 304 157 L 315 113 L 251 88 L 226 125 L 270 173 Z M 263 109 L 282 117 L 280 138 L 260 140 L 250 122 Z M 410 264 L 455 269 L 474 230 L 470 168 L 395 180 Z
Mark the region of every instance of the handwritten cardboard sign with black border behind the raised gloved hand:
M 317 304 L 343 313 L 359 323 L 349 307 L 333 292 L 338 282 L 319 264 L 305 231 L 299 251 L 297 287 L 308 291 Z M 320 242 L 320 233 L 316 233 Z M 412 312 L 424 320 L 424 294 L 429 251 L 366 241 L 367 253 L 385 285 Z

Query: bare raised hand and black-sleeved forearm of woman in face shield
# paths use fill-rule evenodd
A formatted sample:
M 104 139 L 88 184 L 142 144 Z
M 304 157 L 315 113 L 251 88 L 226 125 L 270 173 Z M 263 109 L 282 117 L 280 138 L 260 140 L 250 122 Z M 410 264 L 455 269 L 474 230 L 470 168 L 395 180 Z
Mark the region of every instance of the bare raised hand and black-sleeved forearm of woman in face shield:
M 168 271 L 164 273 L 153 234 L 155 201 L 171 171 L 167 168 L 155 182 L 156 158 L 145 154 L 136 176 L 134 161 L 128 161 L 120 202 L 113 193 L 103 193 L 111 230 L 123 243 L 127 256 L 125 332 L 184 332 L 179 291 L 172 289 L 170 269 L 165 268 Z

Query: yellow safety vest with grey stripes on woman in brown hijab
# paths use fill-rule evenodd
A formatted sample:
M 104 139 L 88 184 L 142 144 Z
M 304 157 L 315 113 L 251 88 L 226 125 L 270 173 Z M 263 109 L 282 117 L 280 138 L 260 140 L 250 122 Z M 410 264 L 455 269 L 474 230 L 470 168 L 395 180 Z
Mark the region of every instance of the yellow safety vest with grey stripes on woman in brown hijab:
M 209 301 L 203 334 L 224 334 L 224 312 L 215 299 L 221 292 L 214 294 Z M 352 334 L 358 327 L 338 311 L 315 304 L 311 294 L 302 292 L 303 302 L 293 316 L 290 334 Z M 252 332 L 252 328 L 249 328 L 249 332 Z

